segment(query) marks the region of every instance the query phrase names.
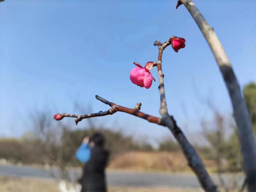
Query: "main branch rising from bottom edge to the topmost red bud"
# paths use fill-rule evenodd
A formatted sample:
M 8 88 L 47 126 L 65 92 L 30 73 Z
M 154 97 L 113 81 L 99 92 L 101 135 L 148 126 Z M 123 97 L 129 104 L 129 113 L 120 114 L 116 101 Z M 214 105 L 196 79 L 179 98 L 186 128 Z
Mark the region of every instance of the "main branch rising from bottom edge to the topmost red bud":
M 207 192 L 216 192 L 217 187 L 215 183 L 212 181 L 212 178 L 207 173 L 204 163 L 196 153 L 193 146 L 189 143 L 186 136 L 180 130 L 180 128 L 176 125 L 176 122 L 172 116 L 169 116 L 167 111 L 167 104 L 166 104 L 166 97 L 165 97 L 165 90 L 164 90 L 164 81 L 163 81 L 163 70 L 162 70 L 162 55 L 163 50 L 171 44 L 172 38 L 171 37 L 168 41 L 164 44 L 160 43 L 160 41 L 156 41 L 154 43 L 155 46 L 158 46 L 158 61 L 157 61 L 157 70 L 158 70 L 158 78 L 159 78 L 159 93 L 160 93 L 160 114 L 163 118 L 163 121 L 166 123 L 166 126 L 172 131 L 172 134 L 180 144 L 183 154 L 188 161 L 189 166 L 195 172 L 198 177 L 199 182 L 201 183 L 202 188 Z

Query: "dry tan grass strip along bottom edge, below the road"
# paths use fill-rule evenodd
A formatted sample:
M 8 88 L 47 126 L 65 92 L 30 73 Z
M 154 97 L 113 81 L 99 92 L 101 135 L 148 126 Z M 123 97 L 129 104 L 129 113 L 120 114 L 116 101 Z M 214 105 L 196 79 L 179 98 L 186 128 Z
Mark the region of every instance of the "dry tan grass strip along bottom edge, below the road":
M 60 191 L 58 189 L 58 183 L 55 180 L 0 176 L 0 192 L 60 192 Z M 203 190 L 109 186 L 108 192 L 203 192 Z

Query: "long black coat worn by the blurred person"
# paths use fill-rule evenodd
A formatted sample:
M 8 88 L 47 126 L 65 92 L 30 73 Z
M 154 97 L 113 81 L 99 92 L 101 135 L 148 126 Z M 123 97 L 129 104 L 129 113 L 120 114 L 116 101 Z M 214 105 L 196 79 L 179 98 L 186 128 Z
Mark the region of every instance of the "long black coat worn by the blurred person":
M 84 165 L 81 178 L 81 192 L 107 192 L 105 168 L 109 152 L 95 145 L 90 151 L 90 159 Z

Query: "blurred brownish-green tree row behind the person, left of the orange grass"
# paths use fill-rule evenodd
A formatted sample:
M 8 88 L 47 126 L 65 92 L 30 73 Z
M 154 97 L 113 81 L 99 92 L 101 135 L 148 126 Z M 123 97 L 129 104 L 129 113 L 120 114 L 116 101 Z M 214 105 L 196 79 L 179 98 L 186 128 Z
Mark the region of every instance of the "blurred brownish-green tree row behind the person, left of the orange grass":
M 81 145 L 85 135 L 93 135 L 95 132 L 104 134 L 106 148 L 111 151 L 111 159 L 127 151 L 153 150 L 150 144 L 144 142 L 139 145 L 131 137 L 122 134 L 121 131 L 103 128 L 73 131 L 64 125 L 58 125 L 58 128 L 52 125 L 43 128 L 42 125 L 47 124 L 41 123 L 41 127 L 35 126 L 34 131 L 26 132 L 20 139 L 1 138 L 0 158 L 11 160 L 14 163 L 79 166 L 81 163 L 76 160 L 76 150 Z M 38 132 L 37 129 L 41 131 Z

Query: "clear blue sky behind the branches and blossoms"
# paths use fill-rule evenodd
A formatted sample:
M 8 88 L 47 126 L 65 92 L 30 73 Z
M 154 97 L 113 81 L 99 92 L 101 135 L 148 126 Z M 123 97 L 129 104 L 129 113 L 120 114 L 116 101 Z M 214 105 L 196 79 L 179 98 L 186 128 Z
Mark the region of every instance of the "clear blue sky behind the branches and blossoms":
M 5 0 L 0 3 L 0 135 L 20 136 L 23 123 L 36 108 L 55 113 L 76 112 L 74 100 L 88 113 L 108 110 L 95 95 L 145 113 L 160 116 L 157 69 L 150 89 L 131 83 L 134 61 L 157 61 L 154 41 L 171 36 L 186 39 L 178 53 L 163 53 L 169 113 L 190 140 L 196 140 L 200 120 L 210 118 L 203 100 L 211 99 L 224 114 L 232 108 L 215 59 L 184 6 L 176 0 Z M 195 0 L 214 28 L 241 87 L 256 81 L 256 1 Z M 93 107 L 88 111 L 87 106 Z M 29 112 L 30 111 L 30 112 Z M 66 118 L 65 123 L 74 119 Z M 121 128 L 148 139 L 169 131 L 143 119 L 116 113 L 97 123 Z M 57 122 L 56 122 L 57 123 Z M 87 120 L 77 128 L 84 127 Z M 116 126 L 113 126 L 116 125 Z M 76 128 L 75 124 L 72 124 Z

